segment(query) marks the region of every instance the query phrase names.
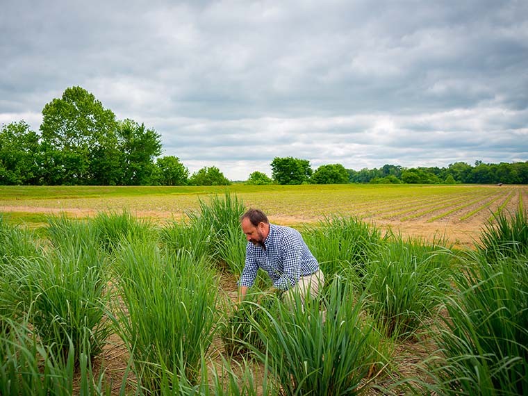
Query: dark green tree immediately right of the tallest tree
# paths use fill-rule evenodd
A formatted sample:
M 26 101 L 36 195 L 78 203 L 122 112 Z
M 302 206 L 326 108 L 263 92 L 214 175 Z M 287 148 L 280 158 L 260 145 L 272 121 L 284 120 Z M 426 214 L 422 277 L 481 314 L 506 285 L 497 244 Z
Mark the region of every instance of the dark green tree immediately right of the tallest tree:
M 117 148 L 120 153 L 120 184 L 151 185 L 155 182 L 154 158 L 161 154 L 161 137 L 132 119 L 119 122 Z

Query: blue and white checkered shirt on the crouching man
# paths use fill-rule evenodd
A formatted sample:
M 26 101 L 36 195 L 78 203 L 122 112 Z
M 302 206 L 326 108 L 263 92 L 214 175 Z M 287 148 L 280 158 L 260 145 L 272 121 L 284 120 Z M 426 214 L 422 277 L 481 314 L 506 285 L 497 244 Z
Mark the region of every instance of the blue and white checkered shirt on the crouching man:
M 270 224 L 265 249 L 247 242 L 246 262 L 239 286 L 253 286 L 258 268 L 270 275 L 273 287 L 288 290 L 300 277 L 319 270 L 319 263 L 296 229 Z

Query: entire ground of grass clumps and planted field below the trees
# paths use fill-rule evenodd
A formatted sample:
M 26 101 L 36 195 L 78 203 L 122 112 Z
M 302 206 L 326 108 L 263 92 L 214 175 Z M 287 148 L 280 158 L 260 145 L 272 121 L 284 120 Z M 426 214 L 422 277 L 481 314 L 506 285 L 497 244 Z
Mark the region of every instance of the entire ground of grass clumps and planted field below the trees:
M 525 194 L 2 188 L 0 394 L 518 394 L 528 375 Z M 325 277 L 310 304 L 292 310 L 263 274 L 237 304 L 248 202 L 299 224 Z M 434 229 L 453 216 L 477 228 L 473 249 L 377 225 Z

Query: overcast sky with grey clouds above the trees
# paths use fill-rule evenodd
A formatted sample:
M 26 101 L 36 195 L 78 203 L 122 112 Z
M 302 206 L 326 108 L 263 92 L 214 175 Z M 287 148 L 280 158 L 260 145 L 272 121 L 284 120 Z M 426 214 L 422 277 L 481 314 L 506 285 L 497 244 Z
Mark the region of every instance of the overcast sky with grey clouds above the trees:
M 190 172 L 528 160 L 528 1 L 26 1 L 0 7 L 0 123 L 79 85 Z

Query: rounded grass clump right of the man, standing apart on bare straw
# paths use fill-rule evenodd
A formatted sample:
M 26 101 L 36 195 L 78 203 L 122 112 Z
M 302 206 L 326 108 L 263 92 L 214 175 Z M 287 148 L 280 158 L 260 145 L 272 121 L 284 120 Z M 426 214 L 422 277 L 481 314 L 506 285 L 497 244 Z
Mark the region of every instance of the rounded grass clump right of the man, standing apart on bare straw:
M 449 287 L 453 254 L 443 240 L 393 236 L 364 267 L 367 306 L 387 336 L 413 336 Z

